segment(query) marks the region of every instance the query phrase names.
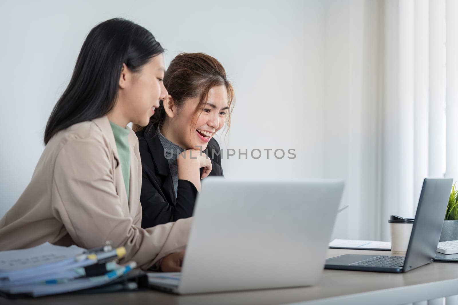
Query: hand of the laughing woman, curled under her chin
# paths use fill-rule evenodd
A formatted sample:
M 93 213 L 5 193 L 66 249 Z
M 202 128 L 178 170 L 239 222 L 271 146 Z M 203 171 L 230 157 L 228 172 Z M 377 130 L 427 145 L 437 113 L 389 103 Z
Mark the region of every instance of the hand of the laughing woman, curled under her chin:
M 200 192 L 200 180 L 212 171 L 212 161 L 200 150 L 185 150 L 177 158 L 178 179 L 191 181 Z M 203 167 L 202 176 L 199 169 Z

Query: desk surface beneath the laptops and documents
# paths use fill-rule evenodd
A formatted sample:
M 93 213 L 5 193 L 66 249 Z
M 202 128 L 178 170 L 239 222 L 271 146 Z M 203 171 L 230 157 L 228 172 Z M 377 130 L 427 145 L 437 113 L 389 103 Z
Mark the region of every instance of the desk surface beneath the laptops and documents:
M 341 254 L 392 255 L 388 251 L 329 249 Z M 458 263 L 433 262 L 407 273 L 324 270 L 313 287 L 173 295 L 158 291 L 56 295 L 1 304 L 404 304 L 458 294 Z

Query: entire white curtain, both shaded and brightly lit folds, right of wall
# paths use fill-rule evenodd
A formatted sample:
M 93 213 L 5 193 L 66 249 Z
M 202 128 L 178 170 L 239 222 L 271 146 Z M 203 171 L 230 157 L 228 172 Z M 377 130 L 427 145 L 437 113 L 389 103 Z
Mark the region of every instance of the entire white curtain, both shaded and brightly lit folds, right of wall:
M 425 177 L 458 178 L 458 0 L 328 0 L 324 176 L 346 181 L 333 237 L 389 241 Z

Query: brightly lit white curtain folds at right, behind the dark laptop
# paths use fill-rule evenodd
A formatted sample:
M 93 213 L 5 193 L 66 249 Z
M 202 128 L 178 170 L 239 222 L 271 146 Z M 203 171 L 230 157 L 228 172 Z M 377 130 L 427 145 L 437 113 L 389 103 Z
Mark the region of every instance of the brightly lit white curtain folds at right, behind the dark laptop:
M 425 177 L 458 178 L 458 2 L 383 2 L 382 236 Z

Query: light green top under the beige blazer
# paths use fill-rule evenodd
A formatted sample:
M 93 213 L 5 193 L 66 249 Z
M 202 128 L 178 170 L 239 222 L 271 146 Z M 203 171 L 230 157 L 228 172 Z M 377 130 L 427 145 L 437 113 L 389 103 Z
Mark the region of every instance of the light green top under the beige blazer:
M 122 128 L 115 123 L 110 122 L 113 129 L 114 140 L 116 141 L 116 149 L 121 163 L 122 177 L 124 178 L 125 193 L 127 201 L 129 201 L 129 181 L 131 177 L 131 152 L 129 150 L 129 133 L 130 130 Z

